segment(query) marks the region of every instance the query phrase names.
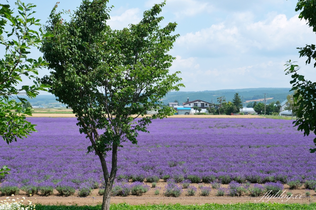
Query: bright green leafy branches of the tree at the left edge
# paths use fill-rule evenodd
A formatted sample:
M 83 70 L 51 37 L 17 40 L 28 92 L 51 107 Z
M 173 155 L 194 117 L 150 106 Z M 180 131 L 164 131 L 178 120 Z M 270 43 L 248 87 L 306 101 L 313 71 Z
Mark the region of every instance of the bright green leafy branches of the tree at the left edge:
M 13 15 L 9 5 L 0 4 L 0 44 L 5 49 L 0 60 L 0 136 L 7 143 L 36 131 L 35 125 L 26 120 L 26 115 L 32 115 L 32 109 L 28 107 L 22 113 L 21 105 L 26 99 L 19 96 L 35 97 L 46 86 L 37 81 L 32 86 L 18 86 L 22 78 L 36 79 L 38 69 L 47 65 L 41 57 L 35 60 L 27 56 L 31 47 L 40 47 L 42 37 L 49 36 L 41 34 L 40 20 L 33 17 L 35 5 L 20 0 L 15 5 L 17 15 Z M 21 102 L 11 100 L 15 97 Z

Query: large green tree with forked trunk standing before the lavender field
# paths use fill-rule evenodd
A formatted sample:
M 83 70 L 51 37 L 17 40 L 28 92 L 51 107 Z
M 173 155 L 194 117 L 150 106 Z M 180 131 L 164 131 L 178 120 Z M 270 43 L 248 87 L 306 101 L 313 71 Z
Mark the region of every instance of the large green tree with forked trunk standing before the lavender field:
M 184 86 L 180 72 L 169 74 L 175 58 L 167 53 L 179 35 L 171 35 L 176 23 L 159 26 L 163 17 L 157 15 L 165 3 L 145 11 L 138 24 L 112 31 L 106 25 L 107 2 L 83 0 L 69 22 L 55 7 L 46 27 L 53 37 L 41 49 L 52 69 L 43 83 L 51 85 L 58 101 L 71 106 L 79 131 L 90 140 L 88 152 L 100 159 L 106 185 L 102 210 L 110 207 L 122 143 L 136 144 L 139 132 L 149 132 L 151 120 L 173 115 L 172 108 L 160 109 L 161 98 Z M 147 110 L 158 114 L 142 114 Z

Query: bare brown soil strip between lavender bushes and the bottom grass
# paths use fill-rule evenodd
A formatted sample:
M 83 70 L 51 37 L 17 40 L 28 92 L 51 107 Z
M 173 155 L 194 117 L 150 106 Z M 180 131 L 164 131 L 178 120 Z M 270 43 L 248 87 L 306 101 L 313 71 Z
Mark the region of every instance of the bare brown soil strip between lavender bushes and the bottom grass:
M 148 183 L 147 183 L 148 184 Z M 216 196 L 216 191 L 215 189 L 212 189 L 211 193 L 209 196 L 201 196 L 200 190 L 197 190 L 197 194 L 195 196 L 189 196 L 186 195 L 186 190 L 183 189 L 183 193 L 178 197 L 166 197 L 163 195 L 163 189 L 165 186 L 165 182 L 162 180 L 157 183 L 157 186 L 161 187 L 160 190 L 160 195 L 155 195 L 153 188 L 151 188 L 147 193 L 144 193 L 142 196 L 135 196 L 135 195 L 129 195 L 126 197 L 121 197 L 121 196 L 114 196 L 111 198 L 111 203 L 129 203 L 131 205 L 137 205 L 137 204 L 175 204 L 175 203 L 180 203 L 180 204 L 205 204 L 205 203 L 223 203 L 223 204 L 228 204 L 228 203 L 244 203 L 244 202 L 262 202 L 260 201 L 261 197 L 250 197 L 249 195 L 242 195 L 240 197 L 227 197 L 227 195 L 221 197 L 221 196 Z M 198 184 L 191 184 L 195 187 L 198 188 Z M 210 186 L 210 184 L 203 184 L 203 186 Z M 222 187 L 227 188 L 228 185 L 222 185 Z M 301 189 L 297 190 L 289 190 L 288 185 L 284 185 L 284 190 L 285 193 L 287 192 L 292 192 L 293 196 L 288 200 L 288 199 L 270 199 L 270 202 L 279 202 L 279 203 L 310 203 L 310 202 L 315 202 L 316 199 L 314 197 L 316 196 L 316 193 L 314 191 L 310 191 L 311 197 L 305 197 L 305 192 L 306 190 L 302 187 Z M 283 191 L 284 191 L 283 190 Z M 58 192 L 54 190 L 54 195 L 48 196 L 48 197 L 43 197 L 39 195 L 35 195 L 32 197 L 26 197 L 26 200 L 33 201 L 34 204 L 40 203 L 40 204 L 51 204 L 51 205 L 57 205 L 57 204 L 63 204 L 63 205 L 95 205 L 95 204 L 100 204 L 102 203 L 102 196 L 98 195 L 98 189 L 92 190 L 91 195 L 89 197 L 78 197 L 77 194 L 69 196 L 69 197 L 64 197 L 64 196 L 58 196 Z M 297 196 L 298 195 L 298 196 Z M 301 198 L 300 195 L 303 195 Z M 26 196 L 23 191 L 20 191 L 20 194 L 17 196 L 14 196 L 16 199 L 19 197 L 20 199 L 22 196 Z M 295 199 L 295 196 L 297 198 Z M 4 200 L 6 196 L 0 197 L 0 200 Z M 13 197 L 10 197 L 13 198 Z M 283 197 L 284 198 L 284 197 Z M 288 200 L 288 201 L 287 201 Z M 265 199 L 264 201 L 267 201 Z

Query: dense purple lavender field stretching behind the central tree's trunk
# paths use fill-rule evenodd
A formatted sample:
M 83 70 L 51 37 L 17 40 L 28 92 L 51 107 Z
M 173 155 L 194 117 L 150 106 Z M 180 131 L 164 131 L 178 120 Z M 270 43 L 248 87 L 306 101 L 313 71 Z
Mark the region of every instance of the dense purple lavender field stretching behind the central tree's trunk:
M 80 188 L 102 183 L 100 161 L 85 154 L 89 141 L 80 135 L 75 118 L 29 119 L 38 133 L 10 145 L 0 141 L 0 165 L 12 169 L 1 185 Z M 125 143 L 120 149 L 119 178 L 316 179 L 316 156 L 309 153 L 314 137 L 304 137 L 289 120 L 176 118 L 155 120 L 149 131 L 140 133 L 137 145 Z

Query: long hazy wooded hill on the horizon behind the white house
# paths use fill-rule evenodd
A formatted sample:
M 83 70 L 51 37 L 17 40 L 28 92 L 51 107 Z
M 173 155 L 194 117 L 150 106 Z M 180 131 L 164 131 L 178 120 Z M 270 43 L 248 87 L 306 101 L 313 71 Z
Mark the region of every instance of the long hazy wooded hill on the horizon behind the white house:
M 291 88 L 245 88 L 245 89 L 225 89 L 225 90 L 205 90 L 205 91 L 198 91 L 198 92 L 170 92 L 168 93 L 164 99 L 163 103 L 168 104 L 169 102 L 174 102 L 174 100 L 179 101 L 180 104 L 187 101 L 193 100 L 203 100 L 206 102 L 213 102 L 217 103 L 217 98 L 220 96 L 225 96 L 226 101 L 232 101 L 234 94 L 239 93 L 240 97 L 244 96 L 244 101 L 246 100 L 254 100 L 264 98 L 263 93 L 268 93 L 266 95 L 267 98 L 270 99 L 270 102 L 280 101 L 281 103 L 286 100 L 286 96 L 289 95 Z M 269 100 L 267 101 L 269 102 Z

